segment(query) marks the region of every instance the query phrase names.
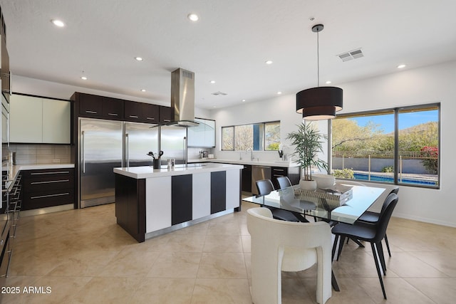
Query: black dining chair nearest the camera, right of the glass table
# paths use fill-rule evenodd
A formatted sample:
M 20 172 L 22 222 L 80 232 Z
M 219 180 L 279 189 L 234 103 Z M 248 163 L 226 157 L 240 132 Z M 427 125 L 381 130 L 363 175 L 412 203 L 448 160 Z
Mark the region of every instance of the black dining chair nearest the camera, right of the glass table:
M 346 238 L 357 239 L 360 241 L 366 241 L 371 243 L 373 259 L 375 261 L 375 267 L 377 268 L 378 279 L 380 280 L 380 285 L 383 291 L 383 298 L 386 300 L 385 286 L 383 285 L 382 273 L 380 267 L 383 270 L 383 275 L 386 274 L 386 264 L 385 256 L 383 256 L 383 248 L 381 241 L 385 238 L 386 229 L 388 228 L 388 223 L 393 214 L 395 206 L 398 204 L 398 195 L 395 193 L 388 194 L 383 203 L 382 211 L 378 217 L 378 222 L 375 225 L 363 225 L 363 224 L 337 224 L 333 227 L 332 233 L 336 236 L 333 243 L 333 258 L 336 253 L 337 244 L 338 254 L 337 260 L 341 255 L 343 248 L 343 243 Z M 340 242 L 339 242 L 340 239 Z M 378 264 L 380 260 L 380 265 Z

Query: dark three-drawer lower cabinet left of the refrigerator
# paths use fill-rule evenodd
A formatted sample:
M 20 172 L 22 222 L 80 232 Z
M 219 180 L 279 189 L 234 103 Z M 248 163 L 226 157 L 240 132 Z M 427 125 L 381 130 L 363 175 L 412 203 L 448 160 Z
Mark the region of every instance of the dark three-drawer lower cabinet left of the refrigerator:
M 21 210 L 74 204 L 74 169 L 24 170 Z

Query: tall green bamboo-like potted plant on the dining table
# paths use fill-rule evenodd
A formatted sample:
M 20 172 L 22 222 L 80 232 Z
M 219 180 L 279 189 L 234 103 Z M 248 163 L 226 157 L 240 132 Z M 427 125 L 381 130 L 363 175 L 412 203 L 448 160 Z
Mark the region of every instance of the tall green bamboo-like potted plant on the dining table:
M 323 152 L 323 140 L 327 140 L 326 135 L 322 135 L 311 124 L 302 122 L 297 125 L 298 130 L 286 135 L 286 139 L 295 146 L 292 155 L 296 162 L 301 165 L 301 189 L 315 190 L 316 182 L 312 179 L 312 167 L 328 170 L 328 163 L 318 158 L 318 152 Z

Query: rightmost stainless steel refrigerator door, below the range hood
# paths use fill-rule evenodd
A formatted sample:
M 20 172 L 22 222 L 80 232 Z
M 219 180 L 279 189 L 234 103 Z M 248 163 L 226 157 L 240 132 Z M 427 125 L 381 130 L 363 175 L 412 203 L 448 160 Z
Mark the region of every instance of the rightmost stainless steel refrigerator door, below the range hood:
M 175 159 L 176 164 L 185 164 L 187 159 L 187 128 L 160 127 L 160 151 L 163 151 L 162 165 L 167 159 Z

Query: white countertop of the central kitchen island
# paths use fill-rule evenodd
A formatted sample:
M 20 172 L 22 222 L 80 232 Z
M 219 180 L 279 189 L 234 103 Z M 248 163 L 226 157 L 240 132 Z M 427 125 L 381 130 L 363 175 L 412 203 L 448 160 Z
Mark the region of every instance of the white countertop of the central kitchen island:
M 242 166 L 237 164 L 201 164 L 194 167 L 176 167 L 172 169 L 167 169 L 166 166 L 162 166 L 162 169 L 153 169 L 152 166 L 142 166 L 142 167 L 120 167 L 114 168 L 114 173 L 125 175 L 126 177 L 132 177 L 134 179 L 147 179 L 151 177 L 169 177 L 175 175 L 184 175 L 184 174 L 195 174 L 203 172 L 217 172 L 217 171 L 227 171 L 233 169 L 243 169 Z

